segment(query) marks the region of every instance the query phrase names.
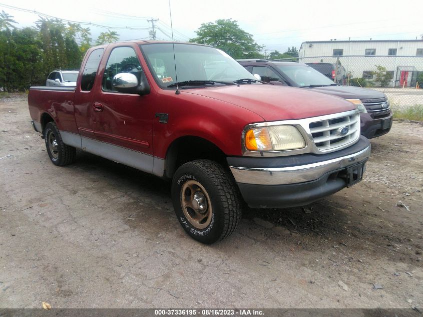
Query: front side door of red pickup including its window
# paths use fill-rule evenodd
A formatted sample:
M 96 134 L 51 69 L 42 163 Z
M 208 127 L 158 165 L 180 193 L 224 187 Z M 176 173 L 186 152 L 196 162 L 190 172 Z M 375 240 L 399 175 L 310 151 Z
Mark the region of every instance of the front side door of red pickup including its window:
M 107 63 L 104 68 L 101 67 L 99 70 L 102 73 L 100 74 L 102 82 L 98 83 L 101 87 L 94 98 L 95 102 L 91 110 L 95 138 L 116 145 L 112 149 L 119 152 L 121 156 L 146 154 L 145 158 L 148 162 L 145 167 L 137 167 L 150 171 L 150 158 L 152 160 L 153 155 L 154 118 L 151 94 L 140 96 L 120 93 L 112 85 L 113 77 L 119 73 L 132 73 L 140 81 L 143 69 L 137 54 L 141 54 L 141 52 L 136 45 L 133 47 L 111 46 L 108 48 L 108 52 L 110 55 Z M 131 154 L 127 151 L 128 149 L 136 151 L 136 153 Z M 143 158 L 144 156 L 141 155 L 141 158 L 137 160 L 142 161 Z M 126 159 L 121 161 L 126 162 Z M 142 162 L 139 163 L 144 166 Z

